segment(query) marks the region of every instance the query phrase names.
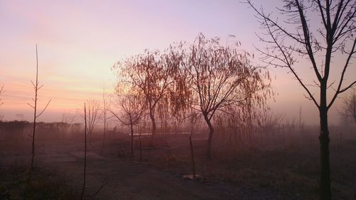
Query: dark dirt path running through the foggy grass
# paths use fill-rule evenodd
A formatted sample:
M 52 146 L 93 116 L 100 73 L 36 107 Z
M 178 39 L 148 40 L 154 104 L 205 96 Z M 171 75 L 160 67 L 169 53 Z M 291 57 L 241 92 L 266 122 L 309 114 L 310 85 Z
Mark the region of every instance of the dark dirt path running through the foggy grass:
M 46 148 L 46 151 L 39 151 L 36 155 L 36 165 L 55 169 L 59 174 L 68 177 L 68 181 L 80 194 L 83 182 L 83 152 L 75 149 L 58 151 Z M 98 190 L 106 178 L 107 184 L 95 199 L 289 199 L 265 189 L 241 189 L 236 186 L 183 179 L 137 162 L 117 157 L 102 157 L 96 152 L 88 152 L 85 187 L 87 199 Z

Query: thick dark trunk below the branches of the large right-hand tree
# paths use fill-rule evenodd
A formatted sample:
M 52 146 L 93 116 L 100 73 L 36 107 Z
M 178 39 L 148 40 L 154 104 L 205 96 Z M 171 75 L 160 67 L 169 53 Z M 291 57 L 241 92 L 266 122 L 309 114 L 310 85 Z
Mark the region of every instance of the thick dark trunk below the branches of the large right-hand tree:
M 326 106 L 326 83 L 322 83 L 320 86 L 320 200 L 330 200 L 330 138 L 328 128 L 328 107 Z

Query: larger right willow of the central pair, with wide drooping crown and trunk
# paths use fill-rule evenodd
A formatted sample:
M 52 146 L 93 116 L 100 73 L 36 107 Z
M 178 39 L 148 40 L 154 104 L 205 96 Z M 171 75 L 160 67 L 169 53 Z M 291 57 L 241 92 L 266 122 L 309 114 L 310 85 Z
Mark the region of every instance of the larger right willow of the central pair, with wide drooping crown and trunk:
M 208 158 L 211 158 L 214 115 L 229 112 L 226 108 L 231 105 L 261 105 L 271 95 L 268 73 L 251 65 L 248 53 L 239 51 L 237 46 L 224 47 L 219 38 L 206 39 L 201 34 L 183 51 L 182 76 L 187 78 L 184 81 L 190 90 L 186 103 L 203 115 L 209 127 Z

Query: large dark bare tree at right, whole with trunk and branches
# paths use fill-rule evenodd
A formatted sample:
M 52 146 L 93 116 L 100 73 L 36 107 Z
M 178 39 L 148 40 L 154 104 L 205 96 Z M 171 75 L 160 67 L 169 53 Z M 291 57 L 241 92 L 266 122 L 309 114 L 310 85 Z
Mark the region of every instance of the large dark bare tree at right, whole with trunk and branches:
M 288 70 L 307 93 L 306 97 L 318 108 L 320 115 L 320 199 L 331 199 L 328 110 L 340 93 L 352 88 L 356 80 L 346 80 L 347 68 L 355 55 L 356 1 L 353 0 L 283 0 L 278 17 L 258 9 L 250 0 L 249 6 L 256 12 L 266 34 L 258 38 L 266 48 L 257 48 L 268 65 Z M 298 59 L 306 60 L 316 80 L 308 83 L 300 76 L 295 65 Z M 335 58 L 345 59 L 335 61 Z M 330 71 L 341 68 L 336 80 L 328 83 Z M 355 76 L 353 77 L 355 78 Z M 310 86 L 316 86 L 313 89 Z M 316 95 L 313 90 L 319 93 Z M 328 101 L 328 92 L 331 99 Z M 319 101 L 318 101 L 319 99 Z

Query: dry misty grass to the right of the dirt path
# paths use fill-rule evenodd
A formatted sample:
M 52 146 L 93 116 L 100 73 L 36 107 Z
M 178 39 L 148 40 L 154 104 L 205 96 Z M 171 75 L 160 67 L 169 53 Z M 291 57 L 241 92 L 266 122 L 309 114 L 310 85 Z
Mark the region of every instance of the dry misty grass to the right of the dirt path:
M 302 199 L 318 199 L 319 145 L 314 136 L 294 135 L 281 145 L 275 135 L 269 138 L 271 140 L 266 140 L 266 144 L 248 148 L 231 148 L 216 142 L 211 160 L 205 158 L 206 142 L 195 140 L 196 169 L 197 174 L 202 176 L 199 181 L 271 189 Z M 276 143 L 273 144 L 273 141 Z M 179 176 L 191 174 L 187 137 L 175 140 L 168 138 L 164 143 L 161 146 L 168 147 L 143 150 L 144 162 Z M 125 142 L 113 142 L 112 145 L 124 149 L 129 147 Z M 125 151 L 128 152 L 128 149 Z M 135 159 L 138 160 L 138 149 L 135 153 Z M 341 149 L 337 139 L 332 137 L 330 167 L 333 198 L 355 199 L 356 140 L 345 140 Z

